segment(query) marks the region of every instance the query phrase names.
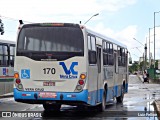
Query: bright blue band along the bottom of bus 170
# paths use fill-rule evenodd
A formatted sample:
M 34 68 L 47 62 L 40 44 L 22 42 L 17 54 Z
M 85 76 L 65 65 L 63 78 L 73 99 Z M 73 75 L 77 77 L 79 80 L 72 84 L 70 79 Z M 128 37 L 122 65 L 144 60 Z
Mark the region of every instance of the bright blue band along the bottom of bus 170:
M 112 99 L 114 96 L 115 97 L 120 96 L 121 91 L 118 91 L 120 89 L 121 89 L 121 85 L 108 88 L 106 101 L 110 101 L 110 99 Z M 113 92 L 113 90 L 115 92 Z M 128 84 L 126 84 L 125 93 L 126 92 L 128 92 Z M 27 99 L 28 100 L 60 100 L 60 95 L 63 94 L 63 100 L 83 101 L 83 102 L 85 102 L 86 104 L 89 104 L 89 105 L 96 105 L 97 102 L 102 102 L 103 89 L 90 91 L 90 92 L 88 92 L 88 90 L 83 90 L 82 92 L 74 92 L 74 93 L 73 92 L 55 92 L 56 95 L 57 95 L 56 98 L 38 98 L 38 99 L 35 99 L 34 98 L 35 93 L 38 95 L 40 92 L 18 91 L 16 88 L 14 88 L 14 98 L 15 98 L 15 100 L 16 99 L 21 99 L 21 100 L 27 100 Z M 97 96 L 97 93 L 99 93 L 98 96 Z M 23 96 L 23 94 L 28 94 L 28 95 Z M 88 97 L 90 99 L 88 99 Z

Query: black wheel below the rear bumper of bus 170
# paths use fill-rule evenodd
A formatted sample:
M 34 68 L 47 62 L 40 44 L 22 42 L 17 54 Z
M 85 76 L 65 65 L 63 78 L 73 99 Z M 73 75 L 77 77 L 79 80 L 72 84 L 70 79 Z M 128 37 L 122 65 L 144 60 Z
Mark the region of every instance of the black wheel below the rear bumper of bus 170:
M 60 111 L 61 104 L 43 104 L 43 108 L 47 111 Z

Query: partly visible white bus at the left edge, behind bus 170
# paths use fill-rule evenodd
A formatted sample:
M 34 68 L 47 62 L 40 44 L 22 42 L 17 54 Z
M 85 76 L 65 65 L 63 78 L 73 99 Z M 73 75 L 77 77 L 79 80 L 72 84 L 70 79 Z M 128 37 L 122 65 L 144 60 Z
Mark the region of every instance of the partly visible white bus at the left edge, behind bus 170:
M 14 80 L 15 42 L 0 40 L 0 82 Z

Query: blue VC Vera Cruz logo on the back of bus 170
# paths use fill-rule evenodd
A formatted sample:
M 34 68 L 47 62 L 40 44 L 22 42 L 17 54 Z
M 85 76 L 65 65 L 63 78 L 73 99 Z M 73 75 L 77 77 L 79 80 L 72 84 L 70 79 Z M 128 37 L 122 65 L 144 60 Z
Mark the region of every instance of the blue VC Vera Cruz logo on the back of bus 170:
M 63 70 L 66 74 L 66 75 L 60 75 L 60 78 L 63 78 L 63 79 L 75 79 L 75 78 L 77 78 L 78 71 L 75 71 L 74 67 L 78 65 L 78 62 L 72 62 L 69 69 L 66 67 L 66 64 L 64 62 L 60 62 L 59 65 L 62 66 L 62 68 L 63 68 Z

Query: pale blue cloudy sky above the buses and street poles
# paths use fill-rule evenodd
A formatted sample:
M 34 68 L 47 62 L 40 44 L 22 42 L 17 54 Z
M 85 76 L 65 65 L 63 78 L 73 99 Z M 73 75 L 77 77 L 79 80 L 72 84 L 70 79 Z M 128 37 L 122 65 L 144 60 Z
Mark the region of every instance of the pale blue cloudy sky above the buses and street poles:
M 19 19 L 24 23 L 67 22 L 86 27 L 125 44 L 133 61 L 143 56 L 154 59 L 154 12 L 160 0 L 0 0 L 0 18 L 5 33 L 2 40 L 16 41 Z M 155 14 L 155 59 L 160 59 L 160 13 Z M 150 42 L 149 42 L 149 28 Z M 135 39 L 133 39 L 135 38 Z

